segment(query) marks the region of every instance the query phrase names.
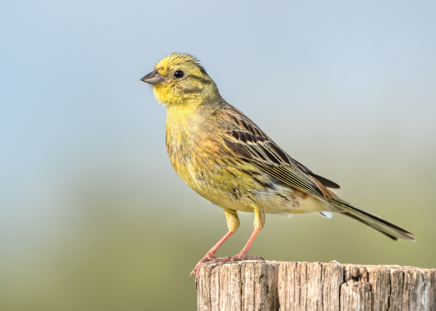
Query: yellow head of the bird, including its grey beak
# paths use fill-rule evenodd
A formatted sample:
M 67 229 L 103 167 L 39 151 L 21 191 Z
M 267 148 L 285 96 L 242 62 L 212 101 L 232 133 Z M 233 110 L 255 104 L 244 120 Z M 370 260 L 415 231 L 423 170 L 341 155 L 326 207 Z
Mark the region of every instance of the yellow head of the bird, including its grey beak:
M 198 60 L 189 54 L 170 54 L 141 81 L 153 85 L 154 96 L 164 105 L 189 103 L 219 96 L 215 82 Z

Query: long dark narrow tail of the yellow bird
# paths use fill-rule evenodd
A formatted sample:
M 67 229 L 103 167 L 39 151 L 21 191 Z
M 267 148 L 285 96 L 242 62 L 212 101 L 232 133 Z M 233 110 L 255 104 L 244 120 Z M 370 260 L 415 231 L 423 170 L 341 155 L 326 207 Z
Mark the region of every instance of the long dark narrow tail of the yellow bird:
M 405 240 L 416 241 L 415 237 L 413 237 L 413 233 L 410 233 L 402 227 L 395 225 L 395 223 L 391 223 L 390 221 L 369 213 L 366 210 L 362 210 L 361 208 L 354 206 L 341 198 L 327 197 L 326 199 L 331 206 L 337 210 L 337 212 L 365 223 L 393 240 L 398 240 L 401 238 Z

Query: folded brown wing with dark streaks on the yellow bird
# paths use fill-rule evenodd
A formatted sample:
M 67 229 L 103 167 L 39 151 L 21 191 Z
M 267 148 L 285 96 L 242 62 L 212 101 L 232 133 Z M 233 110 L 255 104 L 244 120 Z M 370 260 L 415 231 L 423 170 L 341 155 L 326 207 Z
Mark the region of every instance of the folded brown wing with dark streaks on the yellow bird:
M 224 130 L 222 135 L 225 144 L 236 156 L 251 161 L 264 172 L 296 189 L 325 199 L 323 191 L 310 176 L 316 175 L 292 159 L 250 118 L 230 105 L 215 113 L 220 127 Z M 323 177 L 320 179 L 330 182 Z M 321 180 L 320 182 L 322 183 Z M 339 187 L 336 183 L 330 184 Z

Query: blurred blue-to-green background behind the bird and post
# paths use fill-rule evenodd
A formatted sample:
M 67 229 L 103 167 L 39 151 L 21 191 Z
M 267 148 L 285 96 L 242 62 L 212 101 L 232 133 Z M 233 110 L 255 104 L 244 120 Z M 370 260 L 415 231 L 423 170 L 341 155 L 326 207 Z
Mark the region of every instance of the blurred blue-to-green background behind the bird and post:
M 0 10 L 0 309 L 195 310 L 227 231 L 185 185 L 140 78 L 196 55 L 337 194 L 416 234 L 267 215 L 267 260 L 436 268 L 434 1 L 10 1 Z M 245 245 L 253 214 L 218 256 Z

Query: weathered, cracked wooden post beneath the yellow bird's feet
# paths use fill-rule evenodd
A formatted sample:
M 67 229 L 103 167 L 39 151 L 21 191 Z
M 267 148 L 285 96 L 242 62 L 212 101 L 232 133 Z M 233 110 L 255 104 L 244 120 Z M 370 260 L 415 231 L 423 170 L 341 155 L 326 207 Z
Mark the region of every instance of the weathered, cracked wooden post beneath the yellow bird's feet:
M 436 269 L 320 262 L 201 265 L 198 311 L 436 311 Z

